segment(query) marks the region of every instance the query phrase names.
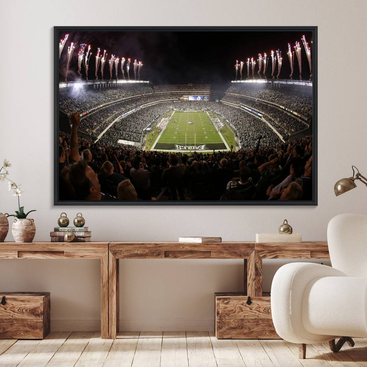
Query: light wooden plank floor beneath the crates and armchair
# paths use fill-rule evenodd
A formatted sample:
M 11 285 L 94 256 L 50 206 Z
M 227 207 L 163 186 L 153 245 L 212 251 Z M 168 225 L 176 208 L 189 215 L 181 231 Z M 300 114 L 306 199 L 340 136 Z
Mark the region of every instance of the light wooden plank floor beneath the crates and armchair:
M 0 340 L 0 367 L 367 367 L 367 338 L 331 353 L 328 344 L 218 340 L 213 332 L 52 332 L 43 340 Z

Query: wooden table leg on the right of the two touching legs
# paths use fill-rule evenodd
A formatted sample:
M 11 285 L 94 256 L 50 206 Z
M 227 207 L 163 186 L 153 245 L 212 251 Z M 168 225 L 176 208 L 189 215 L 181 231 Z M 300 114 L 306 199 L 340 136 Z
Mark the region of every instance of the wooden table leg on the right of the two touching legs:
M 109 338 L 119 331 L 119 259 L 109 251 Z

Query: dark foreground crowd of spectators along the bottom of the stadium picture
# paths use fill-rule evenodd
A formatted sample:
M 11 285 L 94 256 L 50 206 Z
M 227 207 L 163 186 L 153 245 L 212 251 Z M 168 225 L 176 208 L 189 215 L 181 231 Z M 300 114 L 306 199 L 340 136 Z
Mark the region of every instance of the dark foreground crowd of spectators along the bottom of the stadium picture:
M 59 136 L 62 200 L 311 200 L 312 138 L 233 152 L 143 151 Z M 127 181 L 128 180 L 128 181 Z M 124 182 L 126 181 L 126 182 Z

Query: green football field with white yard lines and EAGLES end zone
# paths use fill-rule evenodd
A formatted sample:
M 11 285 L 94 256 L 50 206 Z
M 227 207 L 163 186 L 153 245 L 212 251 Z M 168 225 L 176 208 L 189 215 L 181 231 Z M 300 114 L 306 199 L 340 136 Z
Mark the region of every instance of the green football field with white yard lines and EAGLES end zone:
M 152 150 L 227 150 L 206 112 L 175 111 Z

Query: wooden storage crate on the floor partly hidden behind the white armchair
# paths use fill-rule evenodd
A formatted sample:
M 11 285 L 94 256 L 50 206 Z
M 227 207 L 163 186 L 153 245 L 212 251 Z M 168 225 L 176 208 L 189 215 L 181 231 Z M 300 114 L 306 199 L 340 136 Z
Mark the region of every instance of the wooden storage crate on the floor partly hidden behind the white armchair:
M 216 293 L 218 339 L 279 339 L 270 309 L 270 294 L 250 297 L 245 293 Z

